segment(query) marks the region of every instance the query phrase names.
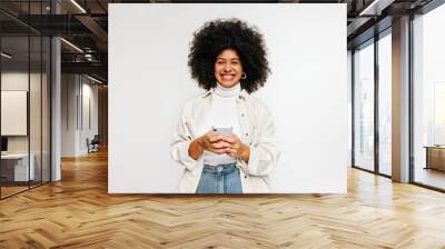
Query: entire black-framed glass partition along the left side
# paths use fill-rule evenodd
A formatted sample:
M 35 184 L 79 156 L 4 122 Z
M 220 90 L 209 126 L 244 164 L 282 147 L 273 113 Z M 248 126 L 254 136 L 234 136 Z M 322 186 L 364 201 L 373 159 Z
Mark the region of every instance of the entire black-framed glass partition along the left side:
M 0 8 L 48 14 L 50 1 L 1 1 Z M 41 19 L 36 19 L 39 21 Z M 50 181 L 50 38 L 0 13 L 0 198 Z

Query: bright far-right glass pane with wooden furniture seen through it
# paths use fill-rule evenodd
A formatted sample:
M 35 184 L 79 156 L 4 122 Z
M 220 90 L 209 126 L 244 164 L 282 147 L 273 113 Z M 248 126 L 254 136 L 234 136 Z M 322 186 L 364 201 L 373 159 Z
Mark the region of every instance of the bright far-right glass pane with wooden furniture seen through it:
M 413 20 L 413 180 L 445 190 L 445 4 Z

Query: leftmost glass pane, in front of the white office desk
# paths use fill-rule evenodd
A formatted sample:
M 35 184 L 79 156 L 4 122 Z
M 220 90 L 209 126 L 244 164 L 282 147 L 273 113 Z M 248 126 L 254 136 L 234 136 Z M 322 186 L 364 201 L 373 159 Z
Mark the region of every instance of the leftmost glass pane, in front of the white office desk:
M 27 190 L 29 158 L 29 37 L 1 38 L 1 197 Z

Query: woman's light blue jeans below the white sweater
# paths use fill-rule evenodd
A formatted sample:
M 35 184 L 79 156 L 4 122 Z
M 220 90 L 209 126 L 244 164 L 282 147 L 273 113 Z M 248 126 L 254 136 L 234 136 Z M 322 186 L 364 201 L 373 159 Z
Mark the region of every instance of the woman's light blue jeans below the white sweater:
M 241 179 L 236 163 L 204 165 L 196 193 L 243 193 Z

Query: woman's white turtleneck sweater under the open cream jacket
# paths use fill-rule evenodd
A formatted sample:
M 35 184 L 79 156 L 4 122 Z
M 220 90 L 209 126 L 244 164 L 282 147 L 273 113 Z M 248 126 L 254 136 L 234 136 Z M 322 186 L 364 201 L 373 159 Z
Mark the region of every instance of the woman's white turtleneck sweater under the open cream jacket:
M 211 107 L 202 122 L 202 135 L 212 128 L 233 128 L 233 132 L 239 138 L 240 124 L 236 99 L 241 92 L 240 83 L 231 88 L 225 88 L 217 83 L 215 94 L 212 96 Z M 216 155 L 210 151 L 204 151 L 205 165 L 225 165 L 236 162 L 236 158 L 228 155 Z

